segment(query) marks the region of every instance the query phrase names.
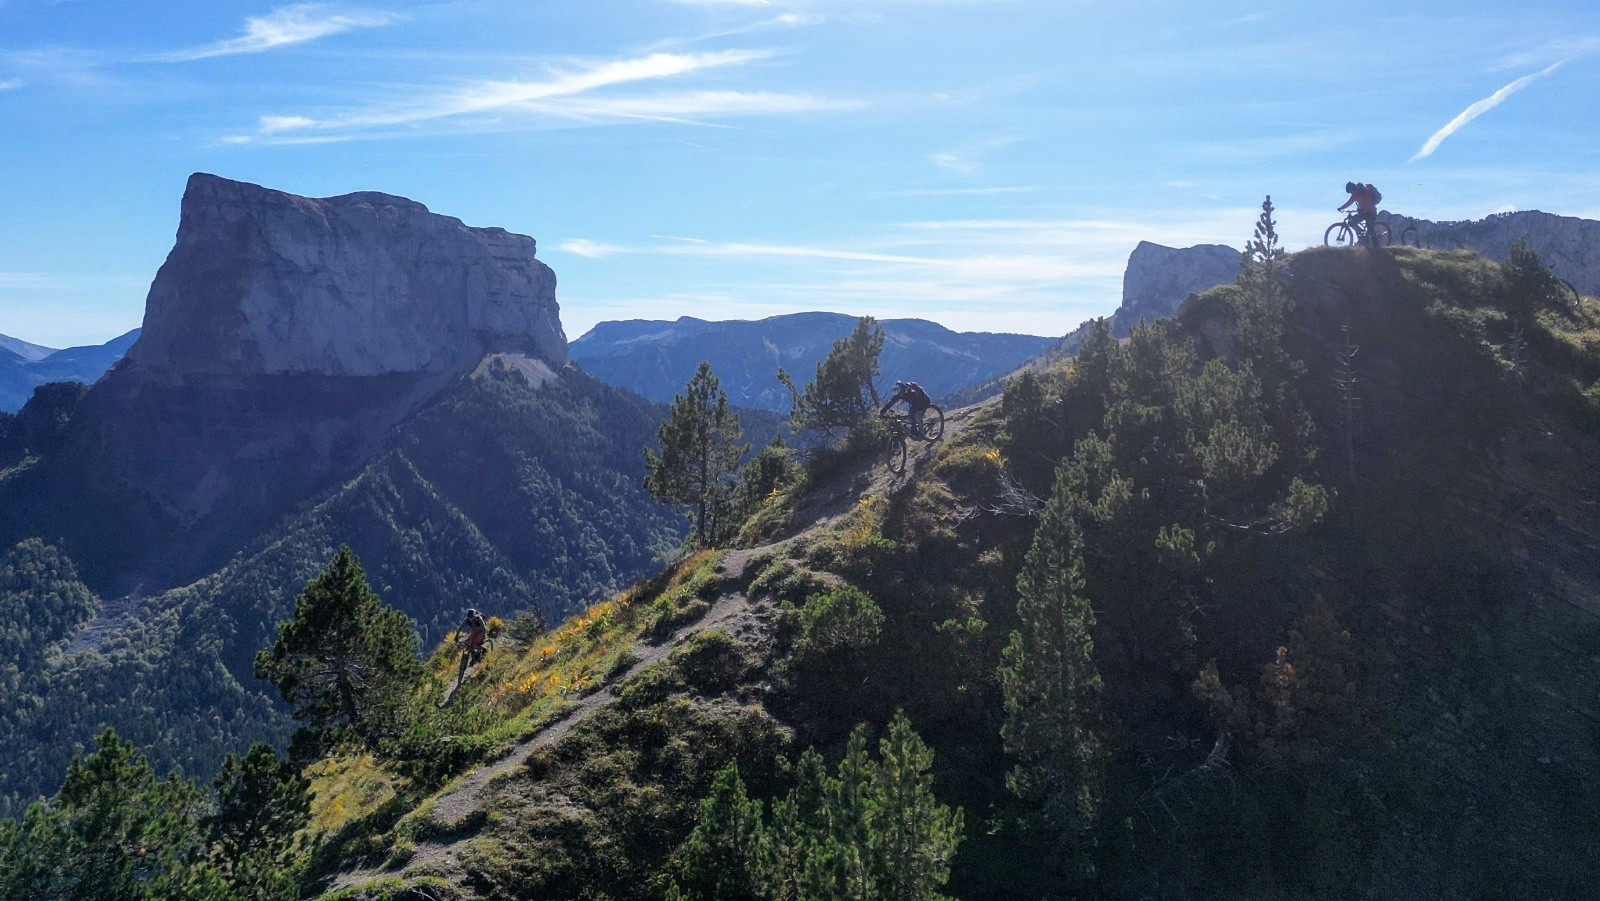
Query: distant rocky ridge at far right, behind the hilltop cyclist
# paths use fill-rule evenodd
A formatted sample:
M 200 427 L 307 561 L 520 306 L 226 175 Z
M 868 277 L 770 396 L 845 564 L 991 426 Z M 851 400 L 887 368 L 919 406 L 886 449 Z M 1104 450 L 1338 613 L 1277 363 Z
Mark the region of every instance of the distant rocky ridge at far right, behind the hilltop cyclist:
M 1494 261 L 1504 261 L 1510 245 L 1526 240 L 1557 275 L 1584 294 L 1600 294 L 1600 222 L 1594 219 L 1539 210 L 1496 213 L 1459 222 L 1430 222 L 1398 213 L 1382 213 L 1382 218 L 1395 235 L 1406 226 L 1416 226 L 1422 246 L 1472 250 Z

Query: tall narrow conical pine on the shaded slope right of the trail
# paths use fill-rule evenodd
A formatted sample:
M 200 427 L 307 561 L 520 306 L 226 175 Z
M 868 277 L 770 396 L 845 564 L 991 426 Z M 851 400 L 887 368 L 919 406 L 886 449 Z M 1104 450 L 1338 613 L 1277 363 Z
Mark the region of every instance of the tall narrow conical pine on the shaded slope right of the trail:
M 1000 736 L 1016 760 L 1006 784 L 1030 807 L 1030 826 L 1062 858 L 1086 847 L 1106 779 L 1094 613 L 1083 597 L 1083 538 L 1074 506 L 1064 464 L 1018 576 L 1022 627 L 1011 632 L 1000 664 Z

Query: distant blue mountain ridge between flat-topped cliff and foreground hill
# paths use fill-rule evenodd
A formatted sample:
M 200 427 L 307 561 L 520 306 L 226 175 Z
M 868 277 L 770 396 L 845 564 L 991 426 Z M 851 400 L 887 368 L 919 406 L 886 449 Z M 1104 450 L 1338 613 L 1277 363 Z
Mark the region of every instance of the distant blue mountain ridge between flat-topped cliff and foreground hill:
M 787 411 L 789 392 L 778 382 L 778 368 L 805 384 L 834 341 L 854 325 L 856 317 L 837 312 L 602 322 L 573 341 L 570 354 L 595 378 L 656 402 L 670 402 L 706 360 L 731 403 Z M 1011 371 L 1056 342 L 1032 334 L 952 331 L 922 318 L 880 325 L 883 382 L 917 381 L 936 398 Z

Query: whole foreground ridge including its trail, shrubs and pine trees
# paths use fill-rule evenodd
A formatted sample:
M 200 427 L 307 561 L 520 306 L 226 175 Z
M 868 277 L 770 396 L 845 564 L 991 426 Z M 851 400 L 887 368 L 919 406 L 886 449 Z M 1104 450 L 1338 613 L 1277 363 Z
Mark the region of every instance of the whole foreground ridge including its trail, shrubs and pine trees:
M 1525 251 L 1270 246 L 904 475 L 870 422 L 763 455 L 726 547 L 258 762 L 278 896 L 1592 895 L 1600 304 Z M 0 872 L 176 791 L 128 755 Z M 160 877 L 237 880 L 227 823 L 166 821 Z

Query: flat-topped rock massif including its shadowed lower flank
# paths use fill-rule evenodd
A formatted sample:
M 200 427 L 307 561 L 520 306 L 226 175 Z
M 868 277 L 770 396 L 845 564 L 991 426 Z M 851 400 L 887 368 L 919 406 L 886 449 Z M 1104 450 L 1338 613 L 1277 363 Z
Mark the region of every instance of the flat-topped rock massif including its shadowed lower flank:
M 486 357 L 530 381 L 562 371 L 555 274 L 534 250 L 402 197 L 192 176 L 142 333 L 56 459 L 3 487 L 0 538 L 64 536 L 114 591 L 211 571 Z

